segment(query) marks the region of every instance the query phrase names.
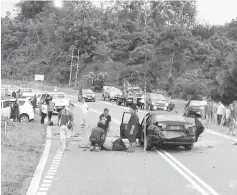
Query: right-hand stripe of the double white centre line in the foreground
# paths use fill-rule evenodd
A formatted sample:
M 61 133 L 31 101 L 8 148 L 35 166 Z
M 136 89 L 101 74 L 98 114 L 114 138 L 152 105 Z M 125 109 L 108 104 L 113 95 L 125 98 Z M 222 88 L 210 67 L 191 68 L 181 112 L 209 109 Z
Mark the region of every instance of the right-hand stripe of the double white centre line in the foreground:
M 198 176 L 196 176 L 192 171 L 190 171 L 188 168 L 186 168 L 181 162 L 179 162 L 177 159 L 175 159 L 171 154 L 168 152 L 161 150 L 167 157 L 169 157 L 173 162 L 175 162 L 179 167 L 181 167 L 184 171 L 186 171 L 190 176 L 192 176 L 194 179 L 196 179 L 200 184 L 202 184 L 209 192 L 211 192 L 213 195 L 220 195 L 218 194 L 214 189 L 212 189 L 210 186 L 208 186 L 203 180 L 201 180 Z

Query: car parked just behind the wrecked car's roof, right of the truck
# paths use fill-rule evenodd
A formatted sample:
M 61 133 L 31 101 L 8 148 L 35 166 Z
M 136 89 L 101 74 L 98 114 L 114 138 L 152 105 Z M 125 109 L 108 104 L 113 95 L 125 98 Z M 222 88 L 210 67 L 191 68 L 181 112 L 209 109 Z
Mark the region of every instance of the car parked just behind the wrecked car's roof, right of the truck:
M 173 110 L 174 106 L 169 106 L 169 101 L 167 98 L 161 94 L 149 93 L 146 95 L 146 109 L 155 111 L 155 110 Z

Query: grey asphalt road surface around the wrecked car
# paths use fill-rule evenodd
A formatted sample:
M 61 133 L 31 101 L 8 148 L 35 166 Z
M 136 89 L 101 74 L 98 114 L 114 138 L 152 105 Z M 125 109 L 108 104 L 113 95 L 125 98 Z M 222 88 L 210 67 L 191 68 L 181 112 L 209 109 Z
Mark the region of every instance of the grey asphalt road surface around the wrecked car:
M 78 147 L 88 143 L 88 127 L 96 126 L 108 108 L 112 116 L 108 142 L 116 139 L 122 114 L 129 109 L 113 102 L 88 102 L 88 126 L 81 128 L 81 103 L 76 105 L 75 131 L 83 134 L 70 143 L 70 151 L 58 151 L 58 127 L 52 128 L 52 146 L 38 195 L 237 195 L 236 141 L 204 132 L 191 151 L 182 148 L 153 150 L 137 147 L 136 153 L 90 152 Z M 183 110 L 183 101 L 176 101 Z M 139 111 L 140 120 L 144 112 Z M 214 129 L 212 131 L 215 131 Z

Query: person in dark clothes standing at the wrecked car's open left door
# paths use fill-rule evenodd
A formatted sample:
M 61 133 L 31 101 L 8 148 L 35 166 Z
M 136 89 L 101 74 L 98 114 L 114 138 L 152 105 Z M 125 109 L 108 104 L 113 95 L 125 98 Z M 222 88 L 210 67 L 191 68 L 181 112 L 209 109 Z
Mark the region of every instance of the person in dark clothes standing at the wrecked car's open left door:
M 136 138 L 139 129 L 139 118 L 137 116 L 137 107 L 136 105 L 131 106 L 130 108 L 131 117 L 128 121 L 128 141 L 129 141 L 129 149 L 127 152 L 135 152 L 136 147 Z

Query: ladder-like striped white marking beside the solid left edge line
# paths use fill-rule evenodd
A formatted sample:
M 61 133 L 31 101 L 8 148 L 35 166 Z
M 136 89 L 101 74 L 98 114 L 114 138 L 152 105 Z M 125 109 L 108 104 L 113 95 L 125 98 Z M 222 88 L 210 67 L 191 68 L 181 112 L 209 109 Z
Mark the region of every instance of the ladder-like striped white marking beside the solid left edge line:
M 49 167 L 48 172 L 46 173 L 44 180 L 41 182 L 41 185 L 37 191 L 37 195 L 47 195 L 49 188 L 52 184 L 53 178 L 58 170 L 60 161 L 63 156 L 63 151 L 58 150 L 56 153 L 51 166 Z

